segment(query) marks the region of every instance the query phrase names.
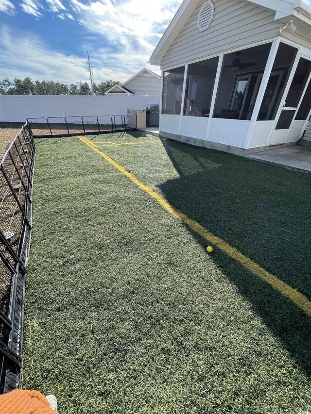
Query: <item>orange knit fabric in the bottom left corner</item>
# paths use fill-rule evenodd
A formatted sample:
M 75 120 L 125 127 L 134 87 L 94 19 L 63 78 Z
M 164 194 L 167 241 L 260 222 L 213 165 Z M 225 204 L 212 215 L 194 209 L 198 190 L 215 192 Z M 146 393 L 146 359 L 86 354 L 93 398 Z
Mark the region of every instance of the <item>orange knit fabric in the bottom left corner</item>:
M 57 414 L 39 391 L 15 390 L 0 396 L 0 414 Z

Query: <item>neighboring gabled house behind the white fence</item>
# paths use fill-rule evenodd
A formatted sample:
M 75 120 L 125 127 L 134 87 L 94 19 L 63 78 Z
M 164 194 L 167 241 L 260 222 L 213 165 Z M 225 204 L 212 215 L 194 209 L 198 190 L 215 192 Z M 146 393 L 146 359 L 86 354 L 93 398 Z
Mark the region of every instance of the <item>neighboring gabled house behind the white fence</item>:
M 114 85 L 105 95 L 159 96 L 161 77 L 144 67 L 121 85 Z

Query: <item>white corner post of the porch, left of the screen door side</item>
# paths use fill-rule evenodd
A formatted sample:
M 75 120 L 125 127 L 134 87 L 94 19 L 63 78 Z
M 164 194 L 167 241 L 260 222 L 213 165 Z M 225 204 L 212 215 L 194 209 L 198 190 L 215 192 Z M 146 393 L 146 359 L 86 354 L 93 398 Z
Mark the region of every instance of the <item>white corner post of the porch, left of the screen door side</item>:
M 267 64 L 266 64 L 266 67 L 265 67 L 264 72 L 263 72 L 261 84 L 260 84 L 260 87 L 259 87 L 256 102 L 255 102 L 255 105 L 254 105 L 253 114 L 252 114 L 252 117 L 251 117 L 251 120 L 250 120 L 250 123 L 249 123 L 246 138 L 245 138 L 245 141 L 244 141 L 244 148 L 248 148 L 250 140 L 252 138 L 254 128 L 255 128 L 255 123 L 257 121 L 257 117 L 258 117 L 258 114 L 259 114 L 259 109 L 260 109 L 260 106 L 261 106 L 261 102 L 262 102 L 262 99 L 263 99 L 263 96 L 264 96 L 264 93 L 266 91 L 266 87 L 267 87 L 267 84 L 268 84 L 268 81 L 269 81 L 269 78 L 270 78 L 271 70 L 273 68 L 273 64 L 274 64 L 274 61 L 275 61 L 275 58 L 276 58 L 276 53 L 277 53 L 279 43 L 280 43 L 280 38 L 279 37 L 272 42 L 270 53 L 269 53 L 268 60 L 267 60 Z

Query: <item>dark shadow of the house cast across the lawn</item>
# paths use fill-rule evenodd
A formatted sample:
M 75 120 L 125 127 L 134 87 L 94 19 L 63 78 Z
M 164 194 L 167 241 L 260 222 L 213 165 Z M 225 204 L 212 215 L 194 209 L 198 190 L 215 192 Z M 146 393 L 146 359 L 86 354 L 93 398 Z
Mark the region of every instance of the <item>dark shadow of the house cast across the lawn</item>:
M 311 175 L 174 141 L 163 146 L 180 175 L 159 185 L 170 204 L 311 299 Z M 213 259 L 310 375 L 311 317 L 218 249 Z

